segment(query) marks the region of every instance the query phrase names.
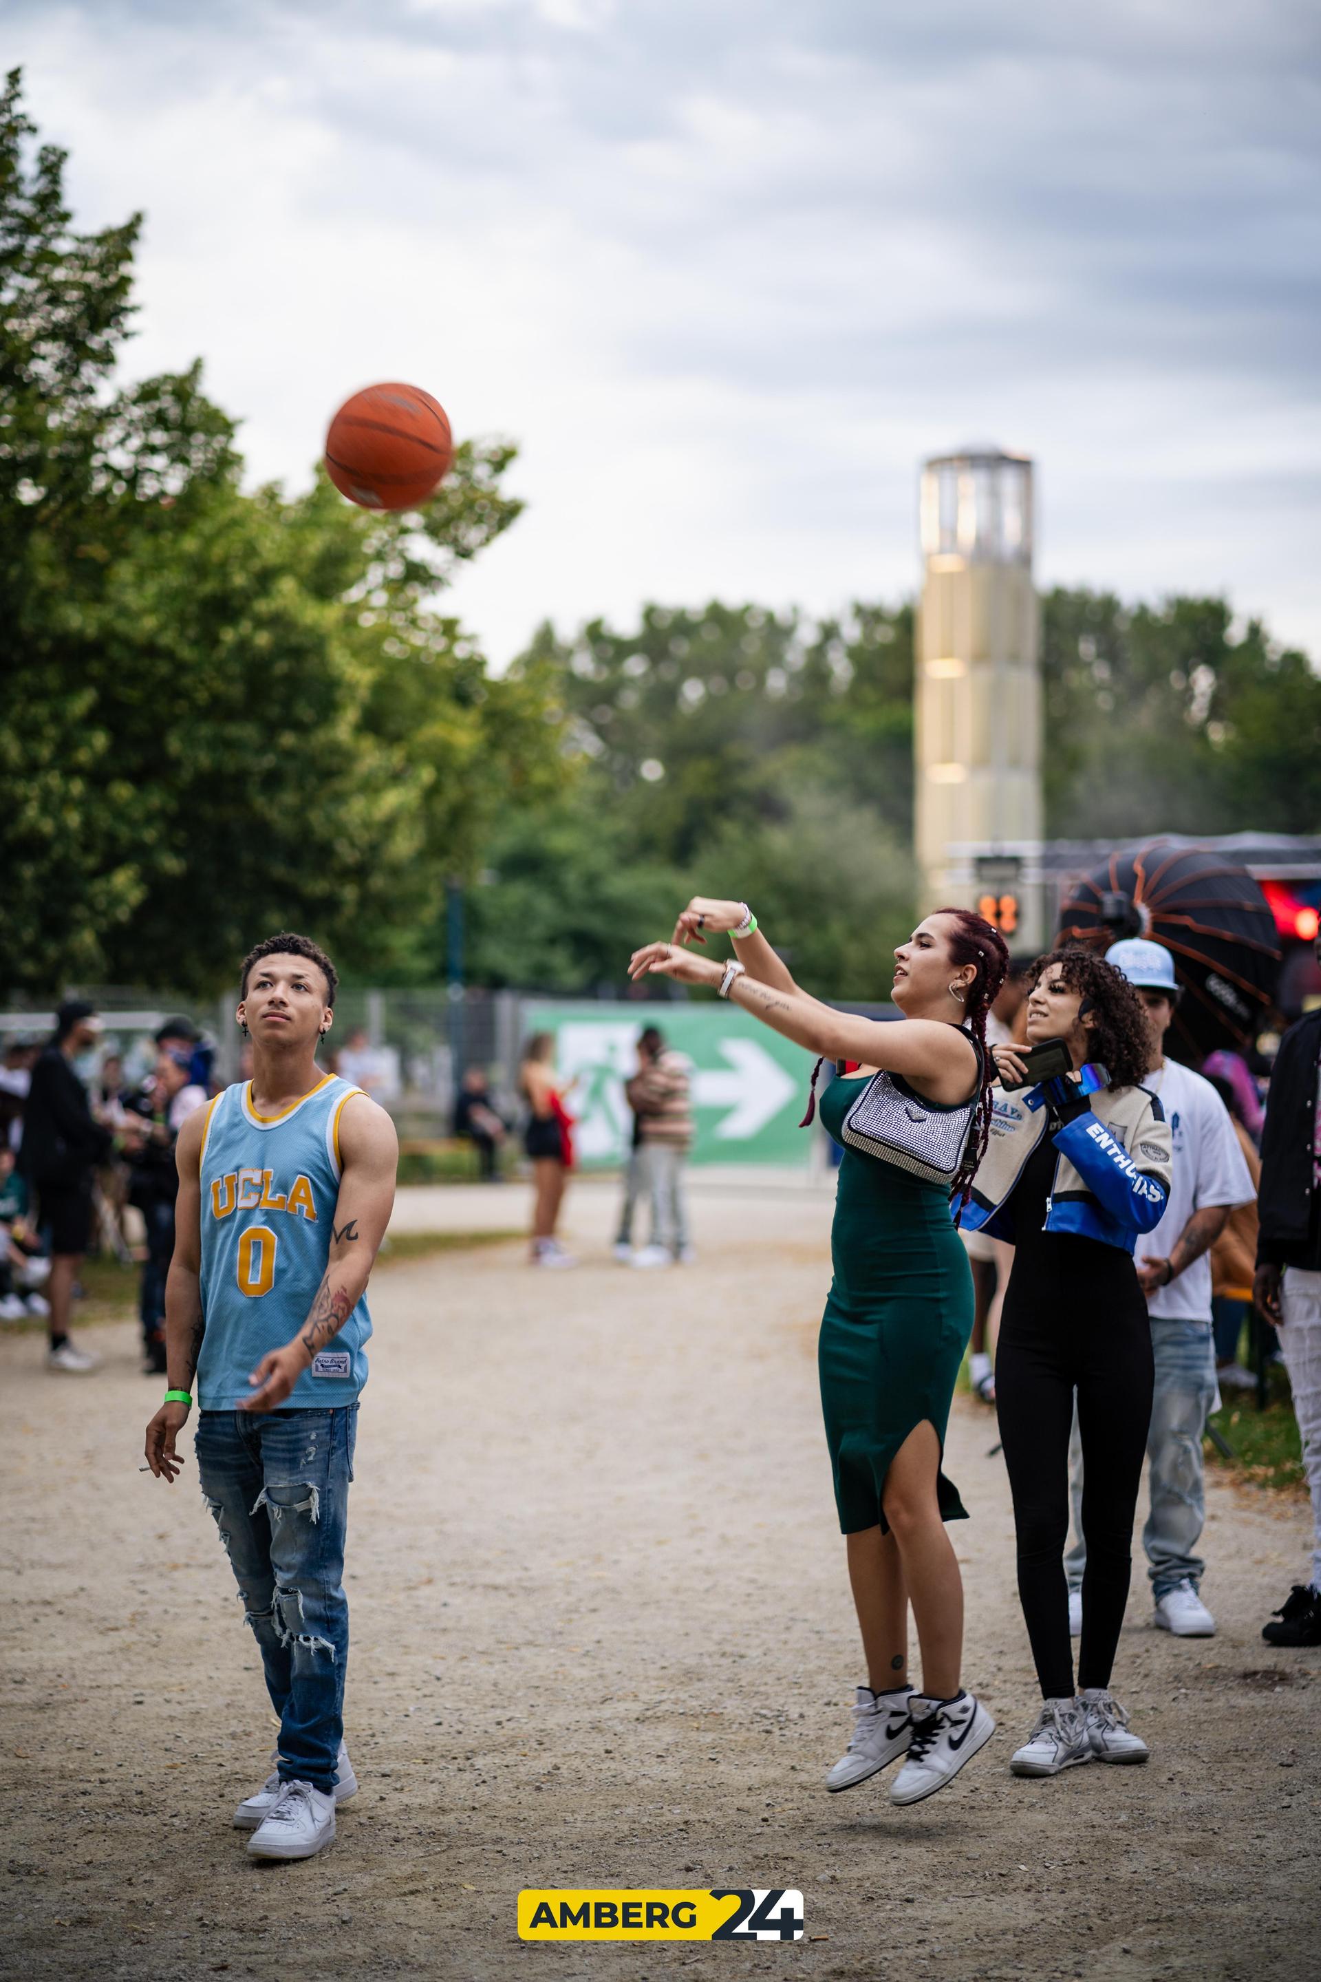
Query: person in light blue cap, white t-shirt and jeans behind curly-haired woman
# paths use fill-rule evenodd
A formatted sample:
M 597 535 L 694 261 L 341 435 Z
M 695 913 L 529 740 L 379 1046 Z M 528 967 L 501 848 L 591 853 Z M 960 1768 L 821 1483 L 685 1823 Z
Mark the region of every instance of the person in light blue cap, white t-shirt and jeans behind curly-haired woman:
M 1174 1144 L 1174 1179 L 1161 1223 L 1139 1239 L 1137 1276 L 1147 1294 L 1157 1389 L 1147 1433 L 1151 1514 L 1143 1528 L 1159 1629 L 1212 1637 L 1216 1619 L 1200 1597 L 1206 1562 L 1196 1554 L 1206 1520 L 1202 1433 L 1216 1407 L 1216 1344 L 1210 1322 L 1210 1249 L 1236 1205 L 1256 1199 L 1230 1112 L 1192 1068 L 1165 1058 L 1165 1035 L 1178 1005 L 1174 959 L 1163 943 L 1129 937 L 1105 961 L 1123 971 L 1151 1025 L 1151 1068 L 1143 1080 L 1159 1096 Z M 1073 1528 L 1064 1558 L 1071 1623 L 1081 1629 L 1081 1457 L 1073 1467 Z

